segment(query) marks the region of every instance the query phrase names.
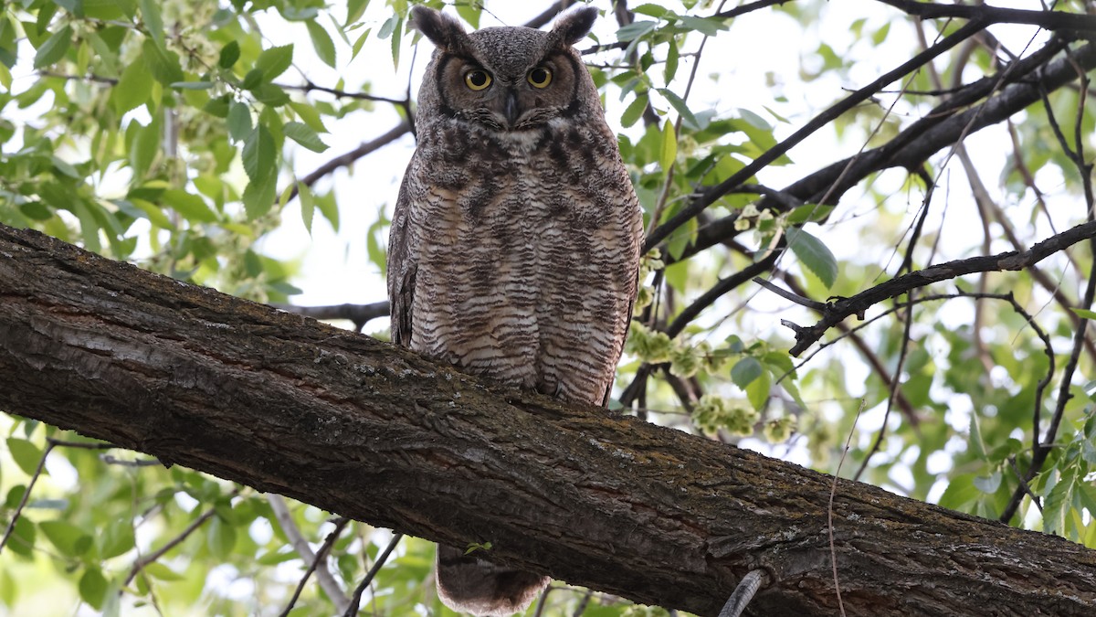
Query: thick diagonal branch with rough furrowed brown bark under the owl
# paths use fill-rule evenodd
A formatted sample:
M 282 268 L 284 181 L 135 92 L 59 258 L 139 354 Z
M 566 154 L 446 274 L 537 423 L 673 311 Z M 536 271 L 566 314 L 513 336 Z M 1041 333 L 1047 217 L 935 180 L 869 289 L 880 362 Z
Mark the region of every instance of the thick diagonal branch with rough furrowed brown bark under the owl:
M 836 612 L 832 479 L 0 226 L 0 408 L 648 604 Z M 849 615 L 1082 615 L 1096 551 L 840 481 Z

